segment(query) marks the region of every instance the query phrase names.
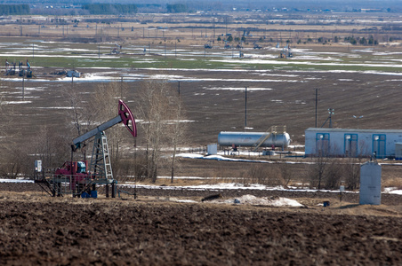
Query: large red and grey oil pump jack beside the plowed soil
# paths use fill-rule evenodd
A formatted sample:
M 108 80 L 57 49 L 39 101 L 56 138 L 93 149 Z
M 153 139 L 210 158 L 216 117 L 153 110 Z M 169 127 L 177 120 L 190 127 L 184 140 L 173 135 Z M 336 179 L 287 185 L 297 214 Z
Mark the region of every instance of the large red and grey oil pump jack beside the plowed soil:
M 61 168 L 57 168 L 51 176 L 43 176 L 35 180 L 45 192 L 52 197 L 72 194 L 73 197 L 97 197 L 97 184 L 104 184 L 106 197 L 116 197 L 117 180 L 113 178 L 112 166 L 109 157 L 108 139 L 104 130 L 122 122 L 133 137 L 137 137 L 137 129 L 133 113 L 125 102 L 118 100 L 118 114 L 116 117 L 102 123 L 83 135 L 76 137 L 71 145 L 71 160 L 66 161 Z M 84 147 L 84 141 L 94 137 L 91 164 L 88 168 L 87 160 L 73 161 L 73 154 L 77 149 Z

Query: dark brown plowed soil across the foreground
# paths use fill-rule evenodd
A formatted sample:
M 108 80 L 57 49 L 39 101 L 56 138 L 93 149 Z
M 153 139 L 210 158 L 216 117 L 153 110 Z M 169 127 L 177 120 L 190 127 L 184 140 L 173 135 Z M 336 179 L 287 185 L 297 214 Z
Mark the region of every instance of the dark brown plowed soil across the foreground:
M 382 215 L 371 215 L 373 209 Z M 326 208 L 179 203 L 145 196 L 88 200 L 3 191 L 0 264 L 401 265 L 400 207 L 393 209 L 347 202 Z

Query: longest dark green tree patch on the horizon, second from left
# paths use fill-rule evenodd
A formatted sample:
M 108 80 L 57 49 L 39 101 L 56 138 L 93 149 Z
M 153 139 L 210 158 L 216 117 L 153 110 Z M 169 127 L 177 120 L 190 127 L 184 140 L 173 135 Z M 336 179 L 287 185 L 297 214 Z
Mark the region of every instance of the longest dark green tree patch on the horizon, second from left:
M 82 8 L 92 15 L 118 15 L 137 12 L 137 5 L 135 4 L 84 4 Z

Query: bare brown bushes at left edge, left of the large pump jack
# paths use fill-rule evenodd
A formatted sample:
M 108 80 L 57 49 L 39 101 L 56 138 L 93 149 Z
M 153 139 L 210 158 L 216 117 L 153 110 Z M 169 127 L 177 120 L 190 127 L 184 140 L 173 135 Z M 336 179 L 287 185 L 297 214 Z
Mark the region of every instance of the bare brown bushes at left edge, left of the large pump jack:
M 2 81 L 0 87 L 0 176 L 33 176 L 34 160 L 42 160 L 46 166 L 60 164 L 68 153 L 68 137 L 45 123 L 32 121 L 28 129 L 21 128 L 24 122 L 20 116 L 24 114 L 15 105 L 20 91 L 14 83 Z

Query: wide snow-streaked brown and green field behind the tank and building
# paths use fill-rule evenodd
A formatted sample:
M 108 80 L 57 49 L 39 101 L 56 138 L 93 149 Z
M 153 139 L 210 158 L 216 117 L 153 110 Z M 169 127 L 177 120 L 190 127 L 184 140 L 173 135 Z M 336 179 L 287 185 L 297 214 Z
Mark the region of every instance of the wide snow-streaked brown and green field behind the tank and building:
M 73 44 L 66 44 L 66 49 L 70 46 Z M 52 47 L 54 48 L 54 44 L 45 44 L 44 52 Z M 82 78 L 74 79 L 74 86 L 80 91 L 83 100 L 96 93 L 100 83 L 121 82 L 123 78 L 127 91 L 124 97 L 134 115 L 141 81 L 166 80 L 176 87 L 180 82 L 181 99 L 190 121 L 187 135 L 189 145 L 216 142 L 218 133 L 222 130 L 244 130 L 245 87 L 248 92 L 247 127 L 253 128 L 253 131 L 265 131 L 272 125 L 286 125 L 295 145 L 302 145 L 304 130 L 315 126 L 315 89 L 319 89 L 318 127 L 326 121 L 327 109 L 334 108 L 334 127 L 400 129 L 398 88 L 402 66 L 393 62 L 399 57 L 394 56 L 394 53 L 398 53 L 397 48 L 381 47 L 358 51 L 338 47 L 330 55 L 327 54 L 327 47 L 311 49 L 313 51 L 294 51 L 293 59 L 275 59 L 275 50 L 259 51 L 266 56 L 268 54 L 267 59 L 261 59 L 262 55 L 254 54 L 253 50 L 248 59 L 232 59 L 225 54 L 219 55 L 217 59 L 204 59 L 201 56 L 197 58 L 194 55 L 195 58 L 189 60 L 195 60 L 196 63 L 188 66 L 184 62 L 180 68 L 154 68 L 144 64 L 163 65 L 166 60 L 172 60 L 173 64 L 180 66 L 181 61 L 186 61 L 183 59 L 184 52 L 181 59 L 175 59 L 174 55 L 165 59 L 163 56 L 135 54 L 90 59 L 94 61 L 93 64 L 100 62 L 102 67 L 83 63 L 88 59 L 80 59 L 94 58 L 95 55 L 81 55 L 79 58 L 73 56 L 71 60 L 76 63 L 60 59 L 65 66 L 36 67 L 34 64 L 49 60 L 36 55 L 37 63 L 29 60 L 36 78 L 26 79 L 22 83 L 21 78 L 6 77 L 4 85 L 11 90 L 4 89 L 3 95 L 5 100 L 17 106 L 15 112 L 21 116 L 19 126 L 23 129 L 36 132 L 44 125 L 60 129 L 70 107 L 62 92 L 71 88 L 71 78 L 60 79 L 50 73 L 75 65 L 83 74 Z M 188 52 L 196 53 L 193 50 Z M 310 54 L 311 59 L 305 58 L 307 54 Z M 371 56 L 366 59 L 367 54 Z M 357 62 L 346 65 L 339 62 L 352 56 L 358 58 Z M 58 57 L 53 55 L 51 59 Z M 21 57 L 8 56 L 9 60 L 12 58 L 18 61 Z M 378 62 L 382 58 L 389 61 Z M 121 67 L 118 67 L 116 60 L 121 61 Z M 137 64 L 138 61 L 140 63 Z M 218 61 L 218 65 L 213 65 L 215 61 Z M 127 66 L 129 62 L 133 67 Z M 108 64 L 114 67 L 105 67 Z M 213 66 L 208 68 L 208 65 Z M 353 115 L 364 117 L 357 120 Z

